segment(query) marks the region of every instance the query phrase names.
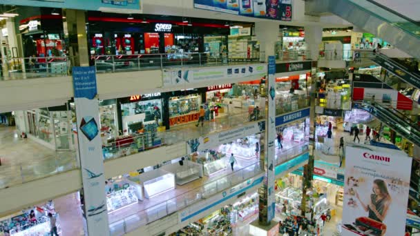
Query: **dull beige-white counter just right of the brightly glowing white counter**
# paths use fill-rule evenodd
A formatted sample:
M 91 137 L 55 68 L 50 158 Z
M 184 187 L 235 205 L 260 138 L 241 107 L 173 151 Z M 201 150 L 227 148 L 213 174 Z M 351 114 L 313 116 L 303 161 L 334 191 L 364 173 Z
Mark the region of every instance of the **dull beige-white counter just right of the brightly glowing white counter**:
M 184 166 L 180 166 L 177 161 L 173 164 L 162 166 L 161 169 L 173 173 L 175 175 L 175 183 L 178 185 L 184 185 L 202 177 L 202 165 L 193 161 L 185 160 Z

